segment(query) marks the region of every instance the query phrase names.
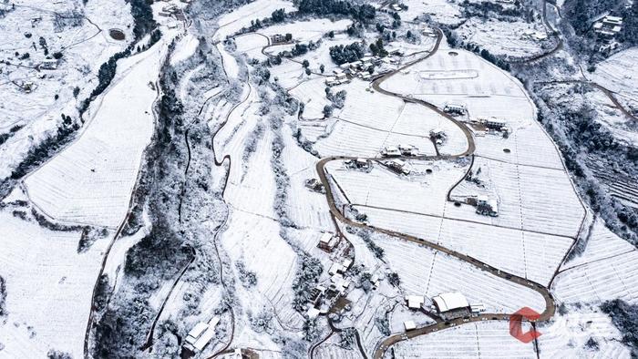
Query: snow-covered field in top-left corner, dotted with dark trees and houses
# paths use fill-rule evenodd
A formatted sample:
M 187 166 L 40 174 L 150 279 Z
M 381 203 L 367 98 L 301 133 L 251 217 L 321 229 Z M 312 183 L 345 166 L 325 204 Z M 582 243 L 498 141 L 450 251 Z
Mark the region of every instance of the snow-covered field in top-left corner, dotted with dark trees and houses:
M 130 6 L 123 0 L 84 6 L 39 0 L 12 3 L 15 9 L 0 21 L 0 58 L 6 61 L 0 65 L 0 134 L 19 130 L 0 146 L 0 179 L 34 144 L 55 135 L 60 114 L 77 118 L 79 102 L 98 84 L 99 66 L 128 46 L 132 37 Z M 56 13 L 70 18 L 61 21 Z M 126 39 L 113 39 L 110 28 L 121 30 Z M 56 69 L 37 70 L 57 52 L 62 57 Z M 23 90 L 29 84 L 31 91 Z M 77 96 L 74 91 L 79 91 Z

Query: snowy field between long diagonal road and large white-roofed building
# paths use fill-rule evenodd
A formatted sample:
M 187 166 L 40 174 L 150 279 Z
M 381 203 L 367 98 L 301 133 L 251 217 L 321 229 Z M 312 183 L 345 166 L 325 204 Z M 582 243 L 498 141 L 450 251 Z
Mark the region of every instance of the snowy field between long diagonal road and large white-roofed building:
M 401 278 L 406 292 L 433 297 L 441 292 L 461 292 L 469 303 L 485 304 L 489 313 L 514 313 L 521 306 L 542 312 L 545 301 L 528 288 L 495 277 L 448 255 L 415 243 L 377 240 L 390 268 Z

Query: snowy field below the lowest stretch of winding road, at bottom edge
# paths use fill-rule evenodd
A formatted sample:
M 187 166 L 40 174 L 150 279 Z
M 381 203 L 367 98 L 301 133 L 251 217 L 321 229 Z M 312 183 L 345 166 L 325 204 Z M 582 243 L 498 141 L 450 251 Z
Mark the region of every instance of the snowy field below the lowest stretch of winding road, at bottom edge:
M 532 344 L 509 335 L 506 322 L 468 323 L 399 342 L 394 348 L 400 358 L 536 357 Z

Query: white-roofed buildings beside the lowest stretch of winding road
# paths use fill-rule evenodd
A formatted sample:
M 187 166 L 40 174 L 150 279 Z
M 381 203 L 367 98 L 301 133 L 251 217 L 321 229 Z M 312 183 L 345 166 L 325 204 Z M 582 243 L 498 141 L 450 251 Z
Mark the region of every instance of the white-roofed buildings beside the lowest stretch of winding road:
M 406 295 L 405 301 L 408 309 L 427 313 L 436 311 L 437 315 L 443 320 L 468 318 L 470 315 L 476 316 L 485 312 L 485 305 L 482 303 L 468 303 L 468 300 L 460 292 L 440 293 L 432 297 L 429 303 L 427 303 L 426 297 L 423 295 L 410 294 Z M 406 331 L 416 328 L 416 324 L 413 321 L 406 321 L 404 326 Z

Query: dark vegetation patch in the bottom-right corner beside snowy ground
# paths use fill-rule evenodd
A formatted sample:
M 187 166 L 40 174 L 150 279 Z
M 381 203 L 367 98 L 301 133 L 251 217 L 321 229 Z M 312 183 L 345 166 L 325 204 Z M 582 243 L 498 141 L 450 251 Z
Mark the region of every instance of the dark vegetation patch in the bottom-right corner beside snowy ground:
M 623 343 L 632 350 L 632 357 L 638 357 L 638 305 L 620 299 L 602 303 L 602 312 L 612 317 L 613 325 L 623 333 Z

